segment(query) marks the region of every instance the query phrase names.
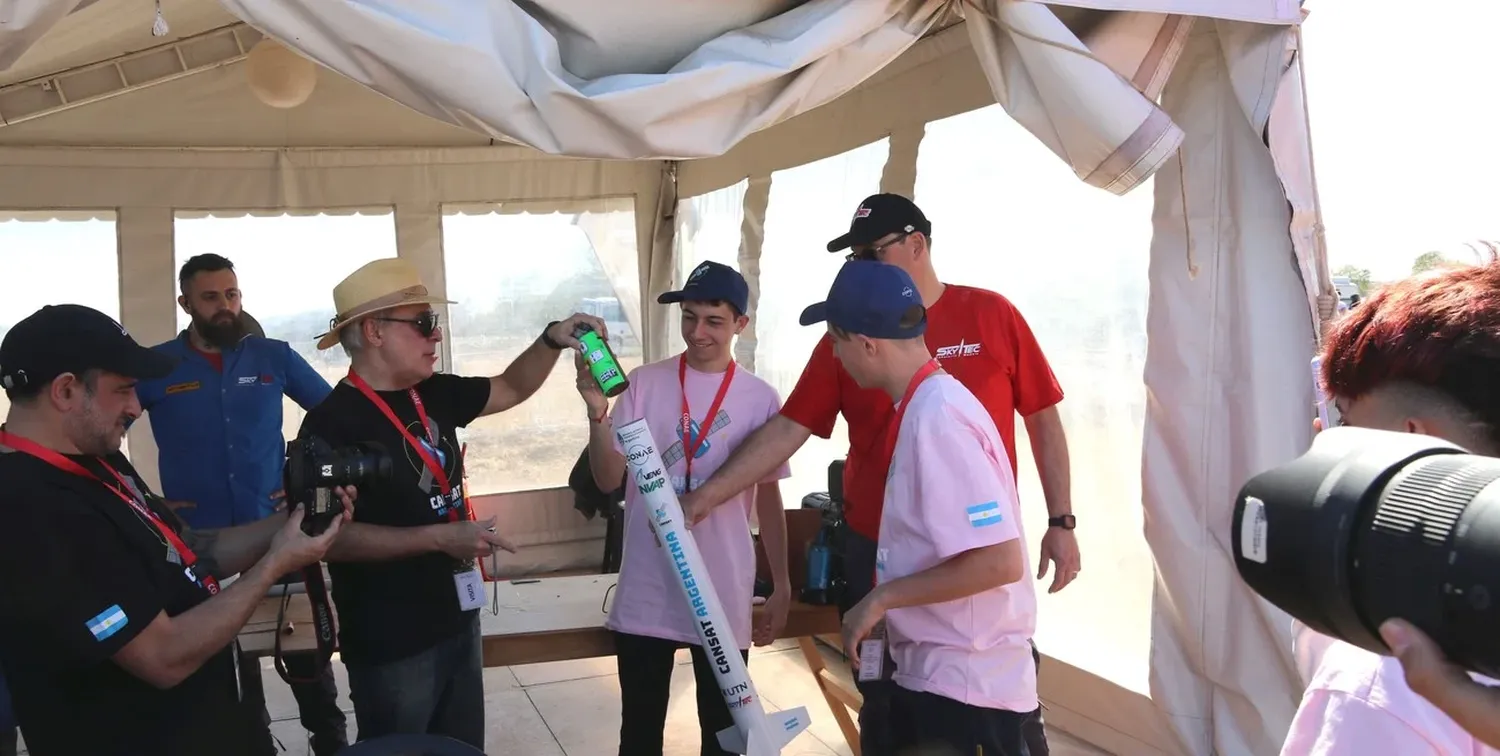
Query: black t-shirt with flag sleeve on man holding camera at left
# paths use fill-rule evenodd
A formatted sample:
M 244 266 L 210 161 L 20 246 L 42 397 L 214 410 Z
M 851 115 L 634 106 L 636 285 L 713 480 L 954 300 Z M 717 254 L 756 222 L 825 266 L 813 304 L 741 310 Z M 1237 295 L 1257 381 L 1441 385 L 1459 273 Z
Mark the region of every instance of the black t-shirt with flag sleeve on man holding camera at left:
M 116 482 L 99 458 L 75 462 Z M 146 494 L 123 454 L 111 466 Z M 21 452 L 0 450 L 0 669 L 26 746 L 50 754 L 237 754 L 252 717 L 238 702 L 230 645 L 172 688 L 112 660 L 156 615 L 210 597 L 168 560 L 150 520 L 96 480 Z

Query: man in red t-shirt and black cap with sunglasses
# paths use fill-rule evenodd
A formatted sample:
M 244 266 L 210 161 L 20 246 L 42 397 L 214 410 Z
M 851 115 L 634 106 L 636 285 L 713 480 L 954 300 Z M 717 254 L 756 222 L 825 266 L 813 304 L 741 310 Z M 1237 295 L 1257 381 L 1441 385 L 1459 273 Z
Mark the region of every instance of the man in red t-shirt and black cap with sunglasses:
M 951 374 L 990 412 L 1016 471 L 1016 416 L 1026 422 L 1032 454 L 1047 500 L 1047 534 L 1041 540 L 1038 574 L 1053 562 L 1048 592 L 1058 592 L 1078 574 L 1078 542 L 1068 478 L 1068 441 L 1058 414 L 1062 388 L 1026 320 L 1005 297 L 986 290 L 944 284 L 932 261 L 932 224 L 910 200 L 894 194 L 866 198 L 855 210 L 849 232 L 828 243 L 830 252 L 849 249 L 849 260 L 897 266 L 916 284 L 927 303 L 926 342 Z M 834 358 L 824 336 L 802 370 L 782 412 L 760 426 L 699 489 L 681 498 L 687 520 L 698 522 L 712 507 L 764 480 L 796 453 L 807 438 L 828 438 L 843 414 L 849 424 L 849 459 L 843 474 L 844 579 L 843 610 L 856 604 L 874 582 L 874 543 L 880 534 L 880 506 L 891 466 L 886 429 L 896 416 L 891 398 L 861 388 Z M 886 693 L 890 681 L 861 682 L 860 740 L 867 756 L 888 753 Z M 1030 723 L 1032 756 L 1046 756 L 1041 716 Z

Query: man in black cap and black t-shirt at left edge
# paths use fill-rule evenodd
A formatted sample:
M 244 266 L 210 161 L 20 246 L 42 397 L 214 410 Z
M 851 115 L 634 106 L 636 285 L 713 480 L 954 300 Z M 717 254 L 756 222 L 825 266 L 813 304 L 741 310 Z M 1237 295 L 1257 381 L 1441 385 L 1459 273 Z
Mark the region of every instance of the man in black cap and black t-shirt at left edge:
M 230 645 L 339 532 L 306 536 L 300 510 L 178 525 L 120 453 L 135 384 L 172 364 L 78 304 L 42 308 L 0 342 L 0 666 L 36 756 L 242 753 L 254 720 Z

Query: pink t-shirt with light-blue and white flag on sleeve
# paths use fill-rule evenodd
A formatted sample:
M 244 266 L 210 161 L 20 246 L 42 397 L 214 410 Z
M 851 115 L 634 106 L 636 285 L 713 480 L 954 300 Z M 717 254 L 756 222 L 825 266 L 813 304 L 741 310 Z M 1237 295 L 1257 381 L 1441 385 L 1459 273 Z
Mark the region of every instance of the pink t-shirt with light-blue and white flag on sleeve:
M 1024 543 L 1018 501 L 994 420 L 954 376 L 934 374 L 902 418 L 876 580 L 915 574 L 970 549 Z M 1023 574 L 1029 572 L 1028 561 Z M 972 706 L 1035 711 L 1028 642 L 1035 628 L 1036 591 L 1024 576 L 957 602 L 892 609 L 886 633 L 896 684 Z

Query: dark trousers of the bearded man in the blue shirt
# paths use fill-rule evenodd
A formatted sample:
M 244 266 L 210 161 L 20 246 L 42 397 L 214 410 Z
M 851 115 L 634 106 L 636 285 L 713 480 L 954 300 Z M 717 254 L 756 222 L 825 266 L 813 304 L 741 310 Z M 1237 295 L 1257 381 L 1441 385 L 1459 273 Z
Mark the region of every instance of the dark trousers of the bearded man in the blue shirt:
M 318 669 L 315 652 L 285 654 L 286 672 L 296 678 L 312 678 Z M 333 666 L 327 664 L 312 682 L 291 682 L 291 694 L 297 699 L 302 726 L 312 735 L 314 756 L 332 756 L 350 744 L 348 717 L 339 708 L 339 686 L 333 680 Z M 266 708 L 266 684 L 261 678 L 258 658 L 240 657 L 240 690 L 246 712 L 258 718 L 255 728 L 260 753 L 279 753 L 272 740 L 272 714 Z

